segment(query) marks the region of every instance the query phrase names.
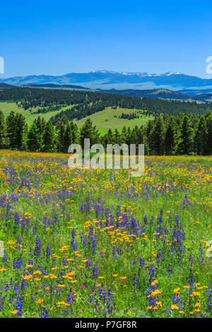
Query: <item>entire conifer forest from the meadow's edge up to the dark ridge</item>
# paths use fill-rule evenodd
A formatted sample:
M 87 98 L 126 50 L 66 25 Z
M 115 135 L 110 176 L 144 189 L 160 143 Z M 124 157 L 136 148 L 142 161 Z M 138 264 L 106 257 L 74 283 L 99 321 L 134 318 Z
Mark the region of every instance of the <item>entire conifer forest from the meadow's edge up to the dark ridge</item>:
M 71 143 L 83 146 L 84 138 L 90 138 L 91 144 L 104 146 L 107 143 L 144 143 L 148 155 L 212 153 L 211 104 L 40 88 L 1 89 L 0 100 L 13 101 L 23 107 L 23 113 L 12 111 L 6 117 L 0 111 L 0 148 L 66 153 Z M 61 105 L 66 106 L 65 109 L 57 112 Z M 24 112 L 31 107 L 36 107 L 37 118 L 28 126 Z M 115 120 L 122 119 L 136 121 L 136 126 L 110 127 L 100 136 L 100 128 L 96 127 L 98 121 L 93 124 L 89 116 L 103 109 L 107 112 L 106 107 L 110 107 L 111 112 L 114 110 L 114 114 L 117 114 L 117 107 L 131 109 L 130 113 L 115 115 L 117 119 L 113 121 L 114 124 Z M 57 113 L 46 121 L 42 114 L 52 110 Z M 85 117 L 78 128 L 75 120 Z

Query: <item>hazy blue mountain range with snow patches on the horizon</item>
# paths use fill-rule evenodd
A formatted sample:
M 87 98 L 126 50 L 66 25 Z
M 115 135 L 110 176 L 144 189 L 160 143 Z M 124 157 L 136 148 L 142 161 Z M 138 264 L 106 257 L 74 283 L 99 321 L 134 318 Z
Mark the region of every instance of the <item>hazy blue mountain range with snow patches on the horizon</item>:
M 90 71 L 89 73 L 67 73 L 61 76 L 31 75 L 4 78 L 1 83 L 11 85 L 57 84 L 83 85 L 85 88 L 110 90 L 168 89 L 168 90 L 205 90 L 212 89 L 212 78 L 199 78 L 183 73 L 117 73 L 115 71 Z

